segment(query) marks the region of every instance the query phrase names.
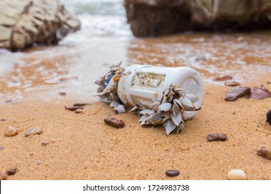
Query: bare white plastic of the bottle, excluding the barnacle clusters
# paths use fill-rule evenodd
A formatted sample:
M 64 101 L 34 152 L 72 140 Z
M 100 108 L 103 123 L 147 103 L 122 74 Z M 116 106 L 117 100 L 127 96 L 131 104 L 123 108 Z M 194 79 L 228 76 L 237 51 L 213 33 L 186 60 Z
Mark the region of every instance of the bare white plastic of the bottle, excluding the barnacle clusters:
M 140 109 L 149 108 L 154 100 L 161 100 L 163 91 L 170 85 L 184 89 L 184 94 L 195 94 L 199 101 L 198 109 L 204 99 L 204 85 L 199 73 L 190 67 L 154 67 L 134 64 L 127 67 L 118 82 L 117 95 L 126 105 L 138 105 Z M 185 112 L 187 120 L 196 112 Z

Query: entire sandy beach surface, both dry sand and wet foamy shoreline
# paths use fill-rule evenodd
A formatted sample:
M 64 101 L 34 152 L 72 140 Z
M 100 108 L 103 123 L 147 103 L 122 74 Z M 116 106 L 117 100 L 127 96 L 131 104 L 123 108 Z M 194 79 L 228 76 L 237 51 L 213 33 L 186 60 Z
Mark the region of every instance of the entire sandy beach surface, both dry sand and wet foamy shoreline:
M 0 170 L 17 168 L 8 179 L 145 180 L 227 179 L 229 170 L 239 168 L 248 179 L 271 179 L 270 160 L 256 155 L 258 147 L 271 146 L 271 126 L 265 122 L 271 98 L 227 102 L 224 96 L 231 87 L 211 81 L 227 74 L 241 86 L 263 85 L 271 91 L 270 36 L 188 34 L 26 51 L 21 64 L 1 75 L 0 118 L 6 121 L 0 121 Z M 99 51 L 104 58 L 97 56 Z M 163 127 L 141 127 L 135 113 L 116 115 L 95 101 L 94 80 L 119 60 L 124 67 L 180 65 L 202 74 L 204 103 L 186 121 L 186 130 L 167 136 Z M 91 105 L 75 114 L 64 108 L 73 103 Z M 110 127 L 104 123 L 107 117 L 121 119 L 125 126 Z M 10 125 L 19 134 L 4 136 Z M 25 137 L 33 126 L 43 133 Z M 208 134 L 220 132 L 227 141 L 207 141 Z M 42 146 L 44 140 L 55 142 Z M 166 170 L 179 170 L 180 175 L 167 177 Z

